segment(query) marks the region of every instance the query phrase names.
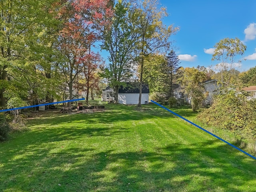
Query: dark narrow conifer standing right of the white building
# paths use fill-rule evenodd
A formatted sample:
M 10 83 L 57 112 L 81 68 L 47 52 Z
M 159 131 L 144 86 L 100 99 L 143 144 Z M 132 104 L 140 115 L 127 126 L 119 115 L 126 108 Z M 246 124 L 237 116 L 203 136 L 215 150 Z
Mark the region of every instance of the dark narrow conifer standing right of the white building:
M 174 50 L 171 50 L 166 57 L 166 68 L 164 73 L 166 74 L 164 84 L 166 85 L 167 98 L 174 96 L 173 85 L 177 84 L 178 80 L 182 77 L 182 71 L 180 70 L 180 60 Z

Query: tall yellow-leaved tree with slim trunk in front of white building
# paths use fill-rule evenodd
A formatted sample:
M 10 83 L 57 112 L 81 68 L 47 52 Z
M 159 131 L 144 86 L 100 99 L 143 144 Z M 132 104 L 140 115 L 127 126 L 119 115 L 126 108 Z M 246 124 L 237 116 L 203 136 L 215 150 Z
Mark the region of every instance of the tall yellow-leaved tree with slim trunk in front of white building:
M 138 106 L 141 106 L 142 83 L 144 60 L 149 54 L 160 52 L 169 48 L 170 36 L 175 34 L 178 28 L 172 25 L 166 26 L 162 23 L 164 17 L 168 16 L 166 8 L 158 8 L 158 0 L 138 1 L 135 7 L 136 17 L 138 18 L 135 26 L 139 34 L 138 63 L 140 67 L 140 95 Z

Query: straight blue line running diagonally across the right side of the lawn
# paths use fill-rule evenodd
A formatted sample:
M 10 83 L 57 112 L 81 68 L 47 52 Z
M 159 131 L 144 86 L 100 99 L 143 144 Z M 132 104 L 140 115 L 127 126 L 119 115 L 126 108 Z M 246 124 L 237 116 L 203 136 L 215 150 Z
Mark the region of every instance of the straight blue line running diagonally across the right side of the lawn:
M 212 135 L 212 136 L 216 137 L 217 139 L 219 139 L 219 140 L 221 140 L 221 141 L 225 142 L 226 144 L 229 144 L 230 146 L 232 146 L 232 147 L 234 147 L 235 149 L 237 149 L 237 150 L 239 150 L 239 151 L 243 152 L 244 154 L 246 154 L 246 155 L 250 156 L 251 158 L 256 159 L 256 157 L 254 157 L 254 156 L 252 156 L 252 155 L 250 155 L 250 154 L 246 153 L 246 152 L 245 152 L 245 151 L 243 151 L 242 149 L 240 149 L 240 148 L 238 148 L 238 147 L 236 147 L 236 146 L 232 145 L 231 143 L 229 143 L 229 142 L 225 141 L 224 139 L 222 139 L 222 138 L 220 138 L 220 137 L 218 137 L 218 136 L 216 136 L 216 135 L 212 134 L 211 132 L 209 132 L 209 131 L 205 130 L 204 128 L 202 128 L 202 127 L 200 127 L 200 126 L 198 126 L 197 124 L 194 124 L 194 123 L 193 123 L 193 122 L 191 122 L 190 120 L 187 120 L 186 118 L 184 118 L 184 117 L 182 117 L 182 116 L 180 116 L 180 115 L 176 114 L 175 112 L 171 111 L 170 109 L 168 109 L 168 108 L 166 108 L 166 107 L 164 107 L 164 106 L 162 106 L 162 105 L 158 104 L 157 102 L 154 102 L 153 100 L 151 100 L 151 102 L 152 102 L 152 103 L 154 103 L 154 104 L 156 104 L 156 105 L 158 105 L 158 106 L 160 106 L 160 107 L 162 107 L 162 108 L 164 108 L 165 110 L 167 110 L 167 111 L 171 112 L 172 114 L 174 114 L 174 115 L 176 115 L 176 116 L 178 116 L 178 117 L 182 118 L 183 120 L 185 120 L 186 122 L 189 122 L 190 124 L 192 124 L 192 125 L 196 126 L 197 128 L 200 128 L 201 130 L 203 130 L 203 131 L 205 131 L 206 133 L 208 133 L 208 134 L 210 134 L 210 135 Z

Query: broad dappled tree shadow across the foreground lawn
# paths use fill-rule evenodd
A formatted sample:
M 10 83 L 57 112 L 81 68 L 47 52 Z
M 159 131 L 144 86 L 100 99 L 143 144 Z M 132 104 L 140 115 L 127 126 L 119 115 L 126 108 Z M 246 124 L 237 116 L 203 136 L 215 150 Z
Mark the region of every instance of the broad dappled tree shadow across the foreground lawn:
M 26 156 L 1 167 L 8 179 L 0 179 L 0 190 L 255 191 L 256 186 L 250 185 L 255 184 L 255 162 L 244 162 L 243 155 L 230 153 L 226 145 L 212 148 L 215 142 L 174 143 L 154 152 L 73 147 L 49 153 L 50 148 L 32 146 Z

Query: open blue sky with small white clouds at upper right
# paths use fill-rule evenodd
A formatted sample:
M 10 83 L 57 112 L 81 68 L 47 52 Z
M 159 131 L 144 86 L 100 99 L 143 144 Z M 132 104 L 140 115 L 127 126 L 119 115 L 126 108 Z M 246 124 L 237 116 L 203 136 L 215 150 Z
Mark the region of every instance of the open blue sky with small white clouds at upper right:
M 164 24 L 179 26 L 172 36 L 181 66 L 214 66 L 211 61 L 214 44 L 223 38 L 236 38 L 244 42 L 240 71 L 256 66 L 256 1 L 255 0 L 160 0 L 167 8 Z M 207 54 L 208 53 L 208 54 Z

